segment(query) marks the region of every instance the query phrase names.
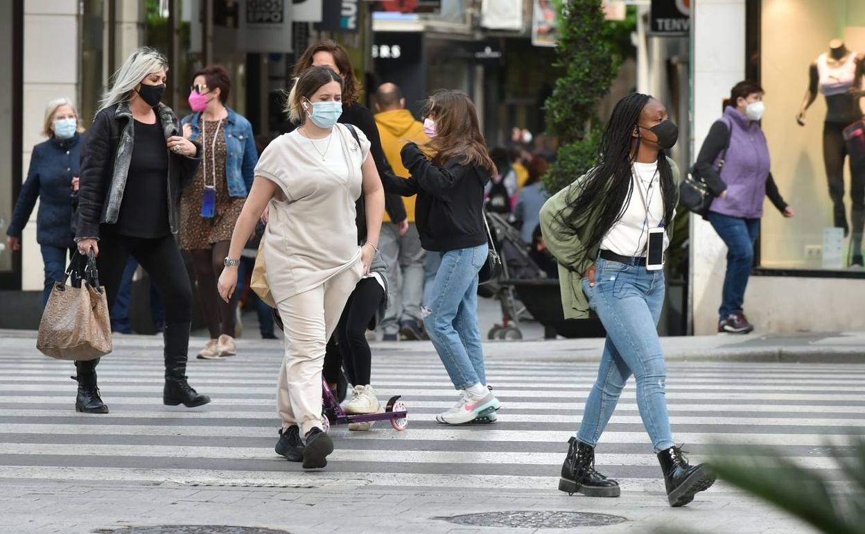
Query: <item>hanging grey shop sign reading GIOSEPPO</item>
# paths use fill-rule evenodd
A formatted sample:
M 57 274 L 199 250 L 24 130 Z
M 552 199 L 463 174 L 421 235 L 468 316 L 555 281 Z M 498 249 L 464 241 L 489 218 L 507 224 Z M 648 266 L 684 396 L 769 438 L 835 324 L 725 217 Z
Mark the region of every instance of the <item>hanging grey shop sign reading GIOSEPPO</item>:
M 237 45 L 243 52 L 292 51 L 292 0 L 240 0 Z

